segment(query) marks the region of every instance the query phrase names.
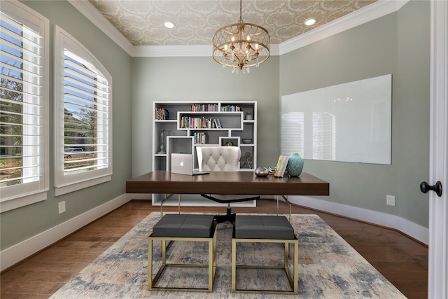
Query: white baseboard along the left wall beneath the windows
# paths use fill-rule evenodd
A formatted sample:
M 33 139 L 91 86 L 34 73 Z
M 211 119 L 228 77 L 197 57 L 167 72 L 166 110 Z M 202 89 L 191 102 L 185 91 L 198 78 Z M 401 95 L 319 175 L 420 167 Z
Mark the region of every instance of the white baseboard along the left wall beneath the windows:
M 26 239 L 19 244 L 15 244 L 7 249 L 4 249 L 0 252 L 0 270 L 3 271 L 15 263 L 20 262 L 20 260 L 24 260 L 32 254 L 57 242 L 59 239 L 66 237 L 79 228 L 82 228 L 84 225 L 87 225 L 97 218 L 104 216 L 110 211 L 122 206 L 131 199 L 132 197 L 129 194 L 120 195 L 119 197 L 116 197 L 99 207 L 86 211 L 84 214 L 80 214 L 79 216 L 71 218 L 64 223 L 50 228 L 49 230 L 45 230 L 45 232 L 41 232 L 34 237 Z

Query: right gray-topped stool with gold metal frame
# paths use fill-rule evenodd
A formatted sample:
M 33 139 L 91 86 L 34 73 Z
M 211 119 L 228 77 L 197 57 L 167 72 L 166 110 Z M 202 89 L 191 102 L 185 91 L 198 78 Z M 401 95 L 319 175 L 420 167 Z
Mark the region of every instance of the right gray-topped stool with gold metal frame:
M 237 243 L 283 243 L 284 256 L 283 266 L 269 265 L 237 265 Z M 294 246 L 293 275 L 288 267 L 289 247 Z M 274 215 L 238 215 L 235 219 L 232 237 L 232 292 L 233 293 L 282 293 L 297 294 L 298 291 L 298 264 L 299 264 L 299 241 L 294 234 L 294 228 L 285 216 Z M 241 252 L 240 252 L 241 255 Z M 260 290 L 260 289 L 237 289 L 237 269 L 283 269 L 288 276 L 290 289 L 288 290 Z

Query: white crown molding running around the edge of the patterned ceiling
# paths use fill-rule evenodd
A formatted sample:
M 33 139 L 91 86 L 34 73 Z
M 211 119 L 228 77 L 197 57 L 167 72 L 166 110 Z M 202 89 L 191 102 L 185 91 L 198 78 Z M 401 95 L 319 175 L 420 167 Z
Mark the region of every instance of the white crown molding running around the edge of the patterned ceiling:
M 67 0 L 74 6 L 85 18 L 90 20 L 104 34 L 109 36 L 118 46 L 123 48 L 132 57 L 191 57 L 191 56 L 211 56 L 212 48 L 210 45 L 179 45 L 179 46 L 132 46 L 123 34 L 111 22 L 97 11 L 89 1 L 86 0 Z M 270 45 L 272 56 L 283 55 L 298 48 L 302 48 L 328 36 L 332 36 L 348 29 L 363 25 L 367 22 L 381 18 L 384 15 L 395 13 L 409 0 L 379 0 L 360 8 L 358 11 L 349 13 L 342 18 L 329 22 L 323 26 L 310 30 L 300 36 L 297 36 L 280 44 Z

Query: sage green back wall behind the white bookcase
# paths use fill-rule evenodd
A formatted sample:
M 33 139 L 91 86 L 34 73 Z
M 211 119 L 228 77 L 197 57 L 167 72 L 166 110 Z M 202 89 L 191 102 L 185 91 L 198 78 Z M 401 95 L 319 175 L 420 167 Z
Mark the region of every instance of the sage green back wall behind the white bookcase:
M 278 56 L 249 74 L 232 74 L 211 57 L 134 58 L 132 78 L 133 176 L 152 169 L 155 101 L 258 101 L 258 165 L 272 165 L 279 158 Z

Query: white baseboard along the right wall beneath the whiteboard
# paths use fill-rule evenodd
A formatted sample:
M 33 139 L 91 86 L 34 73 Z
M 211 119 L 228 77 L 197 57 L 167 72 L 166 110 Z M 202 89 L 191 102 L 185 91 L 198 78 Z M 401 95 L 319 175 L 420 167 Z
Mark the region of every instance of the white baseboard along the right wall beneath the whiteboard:
M 369 209 L 351 207 L 346 204 L 338 204 L 335 202 L 328 202 L 326 200 L 317 200 L 306 196 L 289 196 L 288 200 L 293 204 L 299 204 L 311 209 L 327 211 L 332 214 L 386 226 L 387 228 L 394 228 L 427 245 L 429 242 L 428 228 L 424 228 L 423 226 L 406 220 L 405 218 L 401 218 L 400 216 L 381 213 L 379 211 L 371 211 Z

